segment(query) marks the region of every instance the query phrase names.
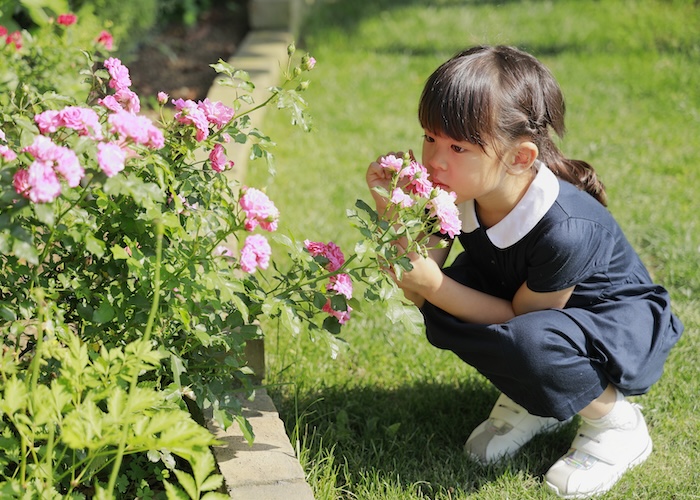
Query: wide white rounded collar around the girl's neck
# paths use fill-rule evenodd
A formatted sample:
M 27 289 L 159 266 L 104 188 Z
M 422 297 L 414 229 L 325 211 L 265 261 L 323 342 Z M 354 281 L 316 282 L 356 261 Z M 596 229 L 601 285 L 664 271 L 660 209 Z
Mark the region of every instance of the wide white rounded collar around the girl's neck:
M 534 167 L 537 175 L 525 195 L 498 224 L 486 230 L 486 236 L 498 248 L 508 248 L 532 231 L 559 195 L 559 180 L 547 165 L 536 160 Z M 474 200 L 460 203 L 459 211 L 462 214 L 462 231 L 471 233 L 480 227 Z

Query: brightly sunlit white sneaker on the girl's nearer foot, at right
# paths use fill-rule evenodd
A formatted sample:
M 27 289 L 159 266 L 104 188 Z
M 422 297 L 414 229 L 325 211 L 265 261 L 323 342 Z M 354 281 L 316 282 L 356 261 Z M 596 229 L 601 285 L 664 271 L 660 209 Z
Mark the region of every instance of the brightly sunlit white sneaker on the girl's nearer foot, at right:
M 569 452 L 545 475 L 557 495 L 589 498 L 603 494 L 625 471 L 647 459 L 652 449 L 649 431 L 639 407 L 630 406 L 636 422 L 626 428 L 601 428 L 583 421 Z

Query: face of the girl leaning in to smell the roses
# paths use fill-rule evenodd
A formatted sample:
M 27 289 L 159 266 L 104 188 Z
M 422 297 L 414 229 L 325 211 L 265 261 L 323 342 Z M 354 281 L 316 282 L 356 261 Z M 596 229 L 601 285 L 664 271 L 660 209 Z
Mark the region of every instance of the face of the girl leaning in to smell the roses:
M 457 203 L 488 204 L 503 195 L 510 176 L 491 147 L 484 151 L 478 144 L 424 132 L 422 163 L 433 184 L 454 191 Z

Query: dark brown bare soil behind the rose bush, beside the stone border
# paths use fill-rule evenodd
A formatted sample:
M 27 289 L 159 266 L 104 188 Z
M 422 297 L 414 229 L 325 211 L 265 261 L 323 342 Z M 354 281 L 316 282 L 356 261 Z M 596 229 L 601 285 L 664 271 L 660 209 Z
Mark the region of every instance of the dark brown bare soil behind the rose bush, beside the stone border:
M 172 99 L 202 100 L 217 73 L 209 66 L 228 60 L 248 32 L 245 0 L 218 2 L 192 27 L 173 23 L 146 40 L 127 64 L 131 89 L 141 99 L 158 92 Z

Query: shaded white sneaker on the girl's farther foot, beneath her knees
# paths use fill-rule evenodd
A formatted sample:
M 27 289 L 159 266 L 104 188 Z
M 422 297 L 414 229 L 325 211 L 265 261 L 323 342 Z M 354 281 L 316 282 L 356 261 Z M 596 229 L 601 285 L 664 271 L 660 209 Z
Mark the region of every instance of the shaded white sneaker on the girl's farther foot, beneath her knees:
M 489 418 L 479 424 L 464 444 L 464 451 L 482 464 L 512 457 L 540 432 L 566 424 L 556 418 L 531 415 L 505 394 L 496 401 Z

